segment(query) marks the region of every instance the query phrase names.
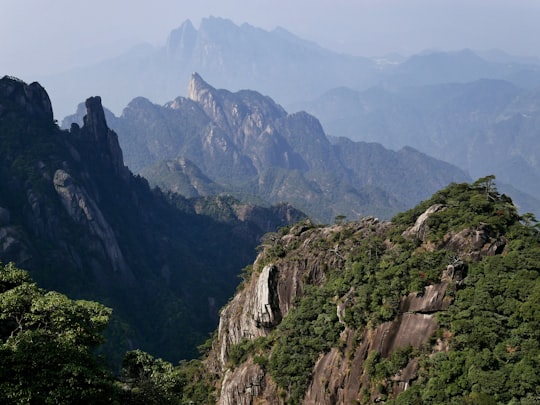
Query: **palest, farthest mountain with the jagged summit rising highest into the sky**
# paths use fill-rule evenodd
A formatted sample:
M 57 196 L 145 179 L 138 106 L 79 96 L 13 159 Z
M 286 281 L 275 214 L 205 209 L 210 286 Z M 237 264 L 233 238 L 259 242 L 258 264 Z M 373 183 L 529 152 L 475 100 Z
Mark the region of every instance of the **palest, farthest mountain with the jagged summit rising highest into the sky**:
M 222 88 L 257 88 L 286 102 L 299 95 L 315 97 L 328 86 L 364 86 L 372 81 L 376 66 L 283 28 L 265 31 L 209 17 L 198 29 L 186 20 L 163 46 L 141 44 L 116 58 L 40 81 L 64 117 L 88 94 L 100 94 L 115 112 L 137 96 L 165 103 L 183 91 L 195 71 Z

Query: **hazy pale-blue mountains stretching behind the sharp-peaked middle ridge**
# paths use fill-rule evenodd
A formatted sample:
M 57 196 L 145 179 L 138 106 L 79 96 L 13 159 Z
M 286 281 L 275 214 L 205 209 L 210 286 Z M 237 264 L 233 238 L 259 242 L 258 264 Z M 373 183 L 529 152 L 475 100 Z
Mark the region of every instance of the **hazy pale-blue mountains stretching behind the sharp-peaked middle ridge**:
M 413 147 L 472 177 L 496 174 L 521 211 L 540 213 L 534 187 L 540 179 L 534 142 L 540 64 L 532 58 L 470 49 L 352 57 L 282 28 L 265 31 L 210 17 L 198 28 L 185 21 L 163 46 L 141 45 L 42 82 L 60 116 L 88 94 L 100 94 L 120 115 L 138 97 L 161 106 L 182 95 L 193 72 L 216 88 L 256 89 L 290 111 L 305 110 L 333 137 L 392 150 Z M 126 156 L 135 171 L 148 166 Z

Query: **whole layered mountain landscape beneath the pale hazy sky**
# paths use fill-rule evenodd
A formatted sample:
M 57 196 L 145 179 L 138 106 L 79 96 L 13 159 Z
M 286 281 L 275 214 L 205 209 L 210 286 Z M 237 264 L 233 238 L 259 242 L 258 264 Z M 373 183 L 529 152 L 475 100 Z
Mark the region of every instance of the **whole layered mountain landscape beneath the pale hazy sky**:
M 538 67 L 509 61 L 354 58 L 210 18 L 57 78 L 132 99 L 118 116 L 94 96 L 61 129 L 40 84 L 0 79 L 6 401 L 536 403 L 540 225 L 495 176 L 464 182 L 538 207 Z M 86 300 L 112 308 L 116 375 Z

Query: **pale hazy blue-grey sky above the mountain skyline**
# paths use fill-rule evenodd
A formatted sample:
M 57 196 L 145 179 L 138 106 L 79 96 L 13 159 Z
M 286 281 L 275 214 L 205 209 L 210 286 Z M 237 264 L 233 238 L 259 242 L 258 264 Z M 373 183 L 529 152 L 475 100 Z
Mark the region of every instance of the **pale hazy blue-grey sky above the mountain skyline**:
M 540 56 L 540 0 L 0 0 L 0 76 L 27 81 L 97 62 L 130 45 L 163 45 L 210 15 L 282 26 L 340 52 L 504 49 Z

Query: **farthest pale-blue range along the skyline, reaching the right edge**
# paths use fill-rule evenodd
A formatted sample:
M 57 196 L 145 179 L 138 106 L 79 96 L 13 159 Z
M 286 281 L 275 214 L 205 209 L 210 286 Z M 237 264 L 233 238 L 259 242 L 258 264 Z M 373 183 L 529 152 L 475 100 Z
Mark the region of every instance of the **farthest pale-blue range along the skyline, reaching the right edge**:
M 266 31 L 217 17 L 202 19 L 198 28 L 186 20 L 161 46 L 141 44 L 115 58 L 38 79 L 62 118 L 89 94 L 99 94 L 117 114 L 137 96 L 164 104 L 185 95 L 192 72 L 218 88 L 256 89 L 287 108 L 340 86 L 365 90 L 481 78 L 521 87 L 540 84 L 538 61 L 500 51 L 366 58 L 324 49 L 280 27 Z

